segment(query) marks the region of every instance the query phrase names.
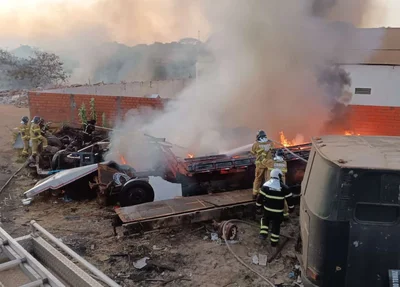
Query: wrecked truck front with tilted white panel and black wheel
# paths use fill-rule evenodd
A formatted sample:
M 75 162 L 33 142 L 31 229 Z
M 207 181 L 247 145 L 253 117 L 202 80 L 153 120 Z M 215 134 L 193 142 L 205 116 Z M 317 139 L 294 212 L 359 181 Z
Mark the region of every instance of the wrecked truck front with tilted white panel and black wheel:
M 73 200 L 97 198 L 101 205 L 130 206 L 154 201 L 154 190 L 147 176 L 113 161 L 60 171 L 39 181 L 24 195 L 32 199 L 48 190 L 61 191 Z

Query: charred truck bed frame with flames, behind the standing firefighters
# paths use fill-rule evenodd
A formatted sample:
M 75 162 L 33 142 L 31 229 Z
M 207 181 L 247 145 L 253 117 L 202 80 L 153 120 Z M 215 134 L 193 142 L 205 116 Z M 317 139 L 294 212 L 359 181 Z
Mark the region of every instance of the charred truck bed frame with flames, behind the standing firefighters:
M 182 195 L 192 196 L 207 192 L 252 188 L 255 157 L 249 151 L 227 156 L 224 154 L 194 158 L 177 158 L 170 146 L 161 145 L 165 156 L 161 165 L 167 167 L 163 178 L 182 185 Z M 284 159 L 288 172 L 286 183 L 295 194 L 300 193 L 311 143 L 286 147 Z M 275 153 L 277 149 L 274 149 Z

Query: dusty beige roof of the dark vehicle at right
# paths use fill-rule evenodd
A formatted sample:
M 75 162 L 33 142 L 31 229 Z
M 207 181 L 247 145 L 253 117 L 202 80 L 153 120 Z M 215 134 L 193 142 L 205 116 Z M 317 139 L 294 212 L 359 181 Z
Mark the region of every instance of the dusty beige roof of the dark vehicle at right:
M 312 143 L 322 157 L 342 168 L 400 170 L 400 137 L 330 135 Z

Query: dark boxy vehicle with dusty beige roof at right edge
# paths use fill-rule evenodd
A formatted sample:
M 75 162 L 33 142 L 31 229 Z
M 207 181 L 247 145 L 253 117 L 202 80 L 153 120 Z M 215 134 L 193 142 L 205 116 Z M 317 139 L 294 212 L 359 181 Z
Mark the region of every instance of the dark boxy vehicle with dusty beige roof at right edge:
M 306 287 L 389 285 L 400 269 L 400 137 L 323 136 L 301 186 Z

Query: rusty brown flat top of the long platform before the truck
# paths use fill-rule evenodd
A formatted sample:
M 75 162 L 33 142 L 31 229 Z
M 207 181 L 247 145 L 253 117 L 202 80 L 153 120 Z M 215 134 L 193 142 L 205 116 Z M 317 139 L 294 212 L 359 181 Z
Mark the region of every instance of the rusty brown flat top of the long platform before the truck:
M 252 201 L 251 190 L 240 190 L 148 202 L 134 206 L 120 207 L 115 211 L 122 222 L 127 223 L 250 201 Z

